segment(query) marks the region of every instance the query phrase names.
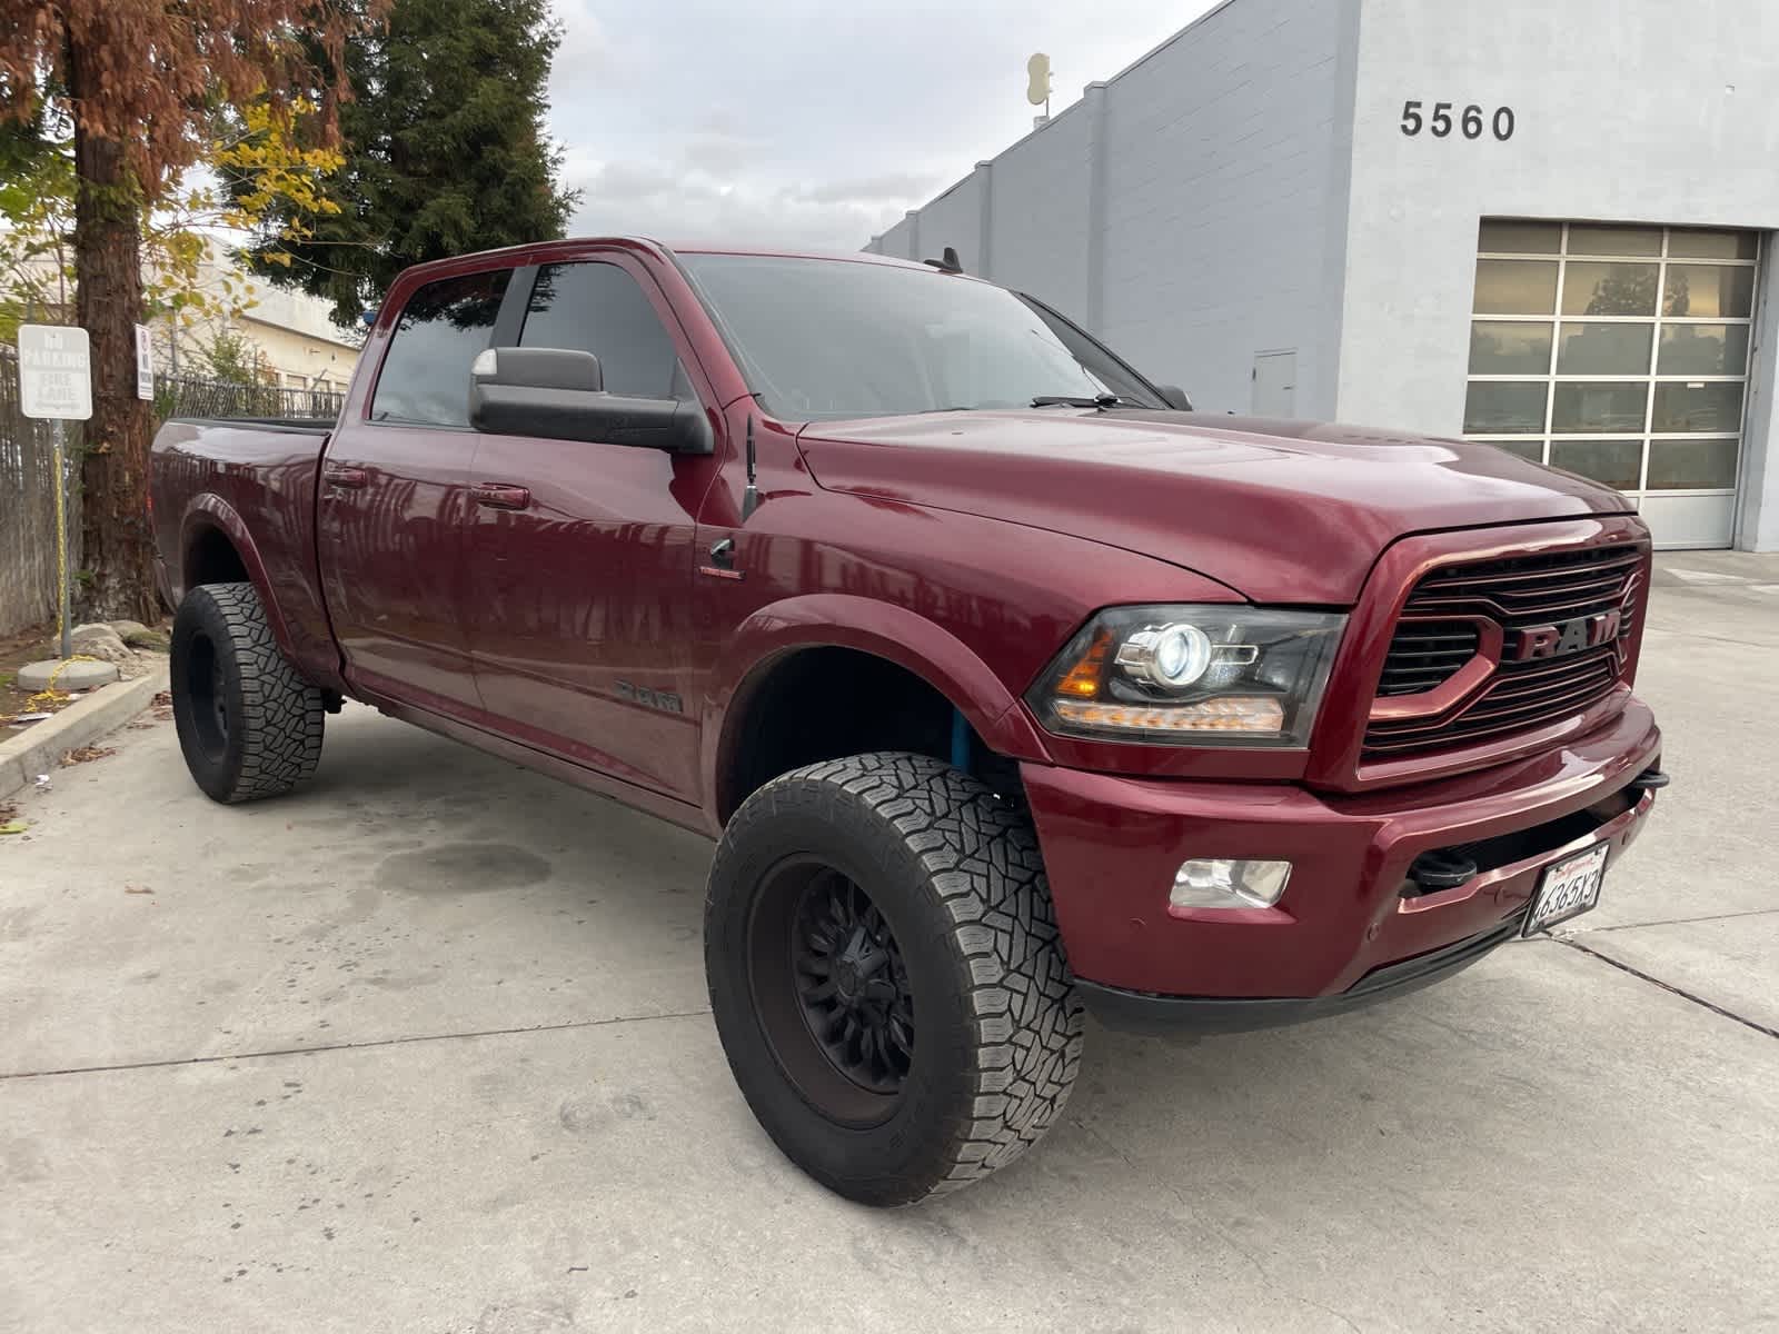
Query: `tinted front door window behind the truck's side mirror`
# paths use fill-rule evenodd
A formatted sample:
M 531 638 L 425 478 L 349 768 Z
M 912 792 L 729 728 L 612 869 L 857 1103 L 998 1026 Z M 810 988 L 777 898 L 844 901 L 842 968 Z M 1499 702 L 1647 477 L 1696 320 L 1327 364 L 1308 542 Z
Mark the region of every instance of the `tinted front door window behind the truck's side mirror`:
M 612 263 L 544 265 L 525 308 L 519 345 L 592 352 L 610 393 L 690 397 L 655 308 L 637 279 Z

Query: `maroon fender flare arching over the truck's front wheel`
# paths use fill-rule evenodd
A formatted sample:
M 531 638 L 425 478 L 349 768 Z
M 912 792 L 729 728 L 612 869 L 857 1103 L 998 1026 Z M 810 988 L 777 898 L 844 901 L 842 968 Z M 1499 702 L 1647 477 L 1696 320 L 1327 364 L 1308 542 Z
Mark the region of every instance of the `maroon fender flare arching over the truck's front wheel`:
M 1050 763 L 1019 697 L 950 630 L 897 603 L 843 592 L 811 592 L 753 612 L 722 647 L 701 704 L 704 809 L 720 822 L 728 770 L 747 697 L 777 660 L 797 649 L 870 653 L 913 672 L 957 708 L 984 745 L 1014 759 Z

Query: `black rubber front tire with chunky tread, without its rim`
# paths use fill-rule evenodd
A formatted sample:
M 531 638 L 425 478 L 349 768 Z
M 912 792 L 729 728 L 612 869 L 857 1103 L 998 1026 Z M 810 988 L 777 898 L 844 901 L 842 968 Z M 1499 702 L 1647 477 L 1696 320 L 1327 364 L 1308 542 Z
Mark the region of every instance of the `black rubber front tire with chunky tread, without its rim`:
M 751 946 L 781 868 L 811 857 L 856 880 L 900 946 L 913 1053 L 881 1124 L 836 1119 L 774 1041 Z M 793 1163 L 863 1204 L 911 1204 L 1005 1167 L 1062 1113 L 1082 1009 L 1030 820 L 977 779 L 916 754 L 799 768 L 754 792 L 717 847 L 704 969 L 735 1080 Z M 772 969 L 765 969 L 772 971 Z M 793 969 L 786 968 L 786 973 Z M 813 1039 L 811 1039 L 813 1041 Z

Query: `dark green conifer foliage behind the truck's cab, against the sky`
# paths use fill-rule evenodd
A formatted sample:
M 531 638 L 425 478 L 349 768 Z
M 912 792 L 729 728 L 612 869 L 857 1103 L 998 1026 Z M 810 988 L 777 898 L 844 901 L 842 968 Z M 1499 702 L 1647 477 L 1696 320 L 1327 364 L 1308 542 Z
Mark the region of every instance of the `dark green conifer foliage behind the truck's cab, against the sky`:
M 345 53 L 336 208 L 274 203 L 253 270 L 354 325 L 407 265 L 560 237 L 576 194 L 544 130 L 559 41 L 546 0 L 393 0 Z

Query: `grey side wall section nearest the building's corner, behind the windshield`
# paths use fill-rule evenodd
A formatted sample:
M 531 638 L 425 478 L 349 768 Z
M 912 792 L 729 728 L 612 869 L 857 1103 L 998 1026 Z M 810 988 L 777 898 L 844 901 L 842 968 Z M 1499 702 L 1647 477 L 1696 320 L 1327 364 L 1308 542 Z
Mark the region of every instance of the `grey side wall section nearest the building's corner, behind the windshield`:
M 1295 349 L 1295 414 L 1332 414 L 1348 18 L 1236 0 L 1107 87 L 1099 333 L 1203 411 L 1249 411 L 1254 354 Z

